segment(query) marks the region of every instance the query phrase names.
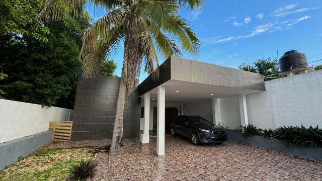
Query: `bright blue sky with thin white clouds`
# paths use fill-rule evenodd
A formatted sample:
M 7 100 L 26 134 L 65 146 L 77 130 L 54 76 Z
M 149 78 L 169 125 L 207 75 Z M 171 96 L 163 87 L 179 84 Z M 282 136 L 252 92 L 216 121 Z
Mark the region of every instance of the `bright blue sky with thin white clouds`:
M 103 15 L 104 12 L 100 12 L 92 17 L 97 19 Z M 184 54 L 185 58 L 237 68 L 241 62 L 275 58 L 277 51 L 282 56 L 284 52 L 296 49 L 306 54 L 308 62 L 322 59 L 320 0 L 205 0 L 201 10 L 183 9 L 180 15 L 191 23 L 201 41 L 199 56 Z M 111 57 L 117 64 L 115 74 L 120 76 L 122 46 Z M 322 61 L 309 65 L 317 64 Z M 146 76 L 142 72 L 140 81 Z

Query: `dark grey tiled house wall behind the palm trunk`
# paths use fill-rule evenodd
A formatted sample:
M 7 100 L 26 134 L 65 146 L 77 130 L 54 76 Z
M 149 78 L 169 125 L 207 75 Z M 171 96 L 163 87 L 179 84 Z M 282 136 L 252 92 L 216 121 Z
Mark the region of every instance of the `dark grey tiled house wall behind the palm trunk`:
M 78 79 L 71 140 L 111 139 L 120 77 Z M 124 104 L 124 138 L 139 137 L 141 100 L 137 90 Z

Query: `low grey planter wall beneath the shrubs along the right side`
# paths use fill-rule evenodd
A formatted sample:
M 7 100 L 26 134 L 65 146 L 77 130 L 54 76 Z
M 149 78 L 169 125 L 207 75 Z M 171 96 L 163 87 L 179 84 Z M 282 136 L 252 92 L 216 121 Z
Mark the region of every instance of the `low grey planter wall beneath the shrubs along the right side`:
M 244 143 L 260 148 L 266 148 L 271 150 L 288 153 L 294 156 L 313 159 L 316 161 L 322 161 L 322 148 L 321 147 L 308 147 L 308 146 L 296 146 L 294 144 L 284 143 L 279 139 L 273 139 L 270 142 L 270 138 L 264 136 L 250 136 L 246 137 L 241 132 L 227 131 L 227 138 L 230 141 L 237 143 Z

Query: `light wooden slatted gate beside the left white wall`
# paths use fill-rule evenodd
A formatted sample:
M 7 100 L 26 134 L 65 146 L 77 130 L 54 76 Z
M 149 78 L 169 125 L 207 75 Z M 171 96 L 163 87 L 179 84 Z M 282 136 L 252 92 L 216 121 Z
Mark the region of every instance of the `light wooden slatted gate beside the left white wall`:
M 50 123 L 49 123 L 50 125 Z M 50 126 L 49 126 L 50 127 Z M 53 141 L 69 141 L 71 135 L 72 121 L 53 121 Z

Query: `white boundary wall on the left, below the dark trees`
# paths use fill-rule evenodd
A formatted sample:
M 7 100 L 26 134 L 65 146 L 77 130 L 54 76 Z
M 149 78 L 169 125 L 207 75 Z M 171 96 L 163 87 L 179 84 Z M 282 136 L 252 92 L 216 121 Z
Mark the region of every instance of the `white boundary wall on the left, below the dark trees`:
M 0 100 L 0 143 L 48 130 L 49 121 L 68 121 L 73 110 Z

